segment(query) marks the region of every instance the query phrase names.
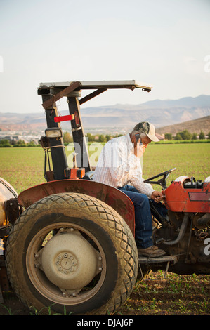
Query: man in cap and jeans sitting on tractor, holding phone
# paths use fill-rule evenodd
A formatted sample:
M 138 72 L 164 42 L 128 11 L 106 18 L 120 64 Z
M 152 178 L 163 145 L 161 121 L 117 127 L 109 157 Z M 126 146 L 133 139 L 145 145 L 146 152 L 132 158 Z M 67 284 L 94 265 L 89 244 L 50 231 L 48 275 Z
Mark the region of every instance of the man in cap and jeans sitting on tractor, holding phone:
M 149 122 L 138 123 L 131 133 L 108 141 L 98 159 L 93 180 L 112 185 L 122 190 L 133 202 L 135 209 L 135 240 L 140 256 L 164 256 L 152 242 L 152 213 L 149 199 L 158 206 L 162 216 L 167 210 L 161 203 L 162 192 L 153 190 L 143 182 L 141 160 L 151 141 L 159 141 L 155 136 L 155 126 Z

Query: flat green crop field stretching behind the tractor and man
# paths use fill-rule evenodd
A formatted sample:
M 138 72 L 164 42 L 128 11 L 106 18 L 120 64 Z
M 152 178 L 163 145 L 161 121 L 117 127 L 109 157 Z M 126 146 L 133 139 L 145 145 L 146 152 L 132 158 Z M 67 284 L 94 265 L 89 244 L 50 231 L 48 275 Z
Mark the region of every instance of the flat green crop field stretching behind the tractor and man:
M 66 149 L 67 159 L 70 159 L 72 150 Z M 99 150 L 101 148 L 98 147 Z M 194 176 L 196 180 L 204 180 L 210 176 L 209 165 L 209 143 L 154 144 L 147 147 L 143 155 L 143 177 L 155 176 L 176 167 L 176 171 L 169 176 L 169 183 L 178 176 Z M 18 193 L 45 182 L 44 150 L 41 147 L 0 148 L 0 177 Z

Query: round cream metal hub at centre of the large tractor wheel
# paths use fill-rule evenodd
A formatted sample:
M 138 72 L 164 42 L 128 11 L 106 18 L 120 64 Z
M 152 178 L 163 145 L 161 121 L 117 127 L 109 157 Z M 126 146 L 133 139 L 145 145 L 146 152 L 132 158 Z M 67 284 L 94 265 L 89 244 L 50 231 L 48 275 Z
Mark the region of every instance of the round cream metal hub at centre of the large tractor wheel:
M 41 252 L 41 268 L 48 279 L 65 290 L 81 290 L 100 272 L 100 253 L 78 230 L 58 232 Z

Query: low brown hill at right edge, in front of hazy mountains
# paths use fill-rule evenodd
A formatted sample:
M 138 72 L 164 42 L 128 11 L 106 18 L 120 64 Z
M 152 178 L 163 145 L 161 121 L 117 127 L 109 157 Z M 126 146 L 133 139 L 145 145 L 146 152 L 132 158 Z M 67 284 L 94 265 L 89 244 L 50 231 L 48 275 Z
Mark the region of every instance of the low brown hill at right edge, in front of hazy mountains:
M 202 130 L 205 134 L 210 131 L 210 116 L 198 118 L 195 120 L 184 121 L 181 124 L 174 124 L 157 128 L 156 131 L 159 134 L 171 133 L 173 136 L 178 132 L 182 132 L 187 129 L 190 133 L 200 133 Z

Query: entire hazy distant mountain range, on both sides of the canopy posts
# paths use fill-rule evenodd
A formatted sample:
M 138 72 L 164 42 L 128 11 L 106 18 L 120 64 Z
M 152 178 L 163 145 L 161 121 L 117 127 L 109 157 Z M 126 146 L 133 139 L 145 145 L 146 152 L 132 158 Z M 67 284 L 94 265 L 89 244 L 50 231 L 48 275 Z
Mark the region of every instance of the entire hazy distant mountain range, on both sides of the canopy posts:
M 67 114 L 67 110 L 61 114 Z M 117 104 L 81 108 L 85 131 L 90 128 L 107 128 L 107 131 L 109 128 L 130 130 L 139 121 L 150 121 L 156 128 L 160 128 L 209 115 L 210 95 L 179 100 L 152 100 L 140 105 Z M 64 129 L 71 127 L 69 122 L 63 122 L 61 126 Z M 44 112 L 33 114 L 0 112 L 1 131 L 28 131 L 44 128 L 46 128 Z

